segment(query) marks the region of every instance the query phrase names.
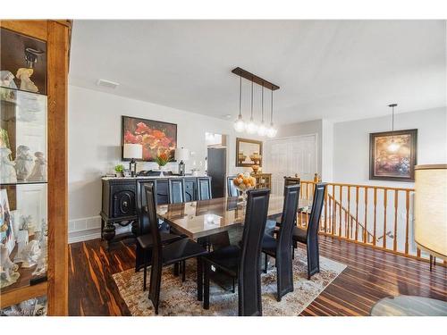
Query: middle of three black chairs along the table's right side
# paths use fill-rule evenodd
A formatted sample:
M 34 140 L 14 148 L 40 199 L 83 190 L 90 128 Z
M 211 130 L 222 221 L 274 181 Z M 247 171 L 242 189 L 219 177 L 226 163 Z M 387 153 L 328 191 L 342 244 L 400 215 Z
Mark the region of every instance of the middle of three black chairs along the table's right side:
M 266 255 L 264 272 L 267 272 L 268 256 L 275 259 L 276 300 L 293 291 L 293 271 L 291 264 L 291 235 L 298 210 L 299 185 L 284 187 L 284 204 L 281 225 L 276 239 L 264 235 L 262 252 Z

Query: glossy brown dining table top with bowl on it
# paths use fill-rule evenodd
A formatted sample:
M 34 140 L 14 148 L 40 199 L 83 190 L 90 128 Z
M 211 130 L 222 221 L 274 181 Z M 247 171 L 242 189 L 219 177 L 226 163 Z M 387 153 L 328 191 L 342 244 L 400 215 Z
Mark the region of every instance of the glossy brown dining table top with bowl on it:
M 270 195 L 267 216 L 283 213 L 283 196 Z M 307 211 L 311 200 L 299 199 L 299 211 Z M 230 230 L 243 224 L 246 206 L 239 197 L 218 197 L 189 203 L 158 205 L 156 214 L 190 239 Z

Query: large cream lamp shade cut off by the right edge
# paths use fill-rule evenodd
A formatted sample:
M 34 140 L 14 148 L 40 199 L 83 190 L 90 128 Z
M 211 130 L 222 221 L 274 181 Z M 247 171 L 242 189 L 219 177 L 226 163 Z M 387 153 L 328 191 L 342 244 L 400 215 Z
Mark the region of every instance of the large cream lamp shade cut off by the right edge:
M 415 167 L 415 241 L 447 259 L 447 164 Z

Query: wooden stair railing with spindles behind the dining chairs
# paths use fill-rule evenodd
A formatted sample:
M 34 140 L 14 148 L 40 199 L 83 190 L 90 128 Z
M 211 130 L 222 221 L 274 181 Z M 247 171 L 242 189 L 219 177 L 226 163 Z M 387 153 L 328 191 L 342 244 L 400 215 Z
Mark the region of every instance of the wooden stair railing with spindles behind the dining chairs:
M 300 197 L 312 199 L 316 183 L 300 182 Z M 326 184 L 320 234 L 428 262 L 429 255 L 410 238 L 414 188 Z M 307 222 L 308 213 L 304 211 L 299 214 L 298 224 L 306 227 Z

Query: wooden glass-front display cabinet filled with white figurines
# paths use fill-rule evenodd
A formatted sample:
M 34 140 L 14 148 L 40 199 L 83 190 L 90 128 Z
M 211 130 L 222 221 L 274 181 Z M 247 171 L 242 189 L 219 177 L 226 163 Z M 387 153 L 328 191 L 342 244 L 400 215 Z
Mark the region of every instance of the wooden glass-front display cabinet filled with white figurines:
M 0 21 L 0 314 L 68 314 L 69 21 Z

